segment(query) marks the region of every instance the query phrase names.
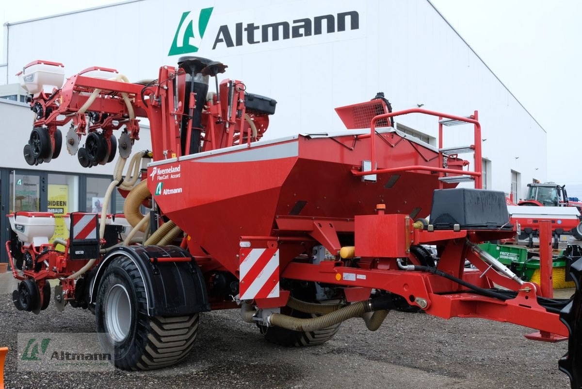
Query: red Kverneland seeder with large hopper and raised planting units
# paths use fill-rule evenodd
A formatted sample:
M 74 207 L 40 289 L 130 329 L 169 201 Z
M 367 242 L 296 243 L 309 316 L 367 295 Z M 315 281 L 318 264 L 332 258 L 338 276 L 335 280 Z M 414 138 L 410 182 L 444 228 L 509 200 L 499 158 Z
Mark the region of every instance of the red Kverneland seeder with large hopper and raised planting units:
M 24 68 L 37 114 L 24 147 L 29 163 L 58 157 L 58 127 L 69 124 L 66 145 L 83 166 L 113 161 L 116 148 L 119 158 L 102 214 L 70 214 L 68 239 L 48 242 L 52 214 L 10 215 L 19 309 L 40 312 L 48 280 L 60 280 L 56 305 L 93 311 L 102 346 L 127 370 L 182 360 L 208 310 L 239 309 L 286 346 L 321 344 L 353 317 L 377 330 L 391 309 L 481 317 L 569 337 L 559 366 L 580 387 L 580 293 L 544 296 L 478 247 L 512 238 L 515 228 L 503 193 L 480 189 L 481 164 L 472 171 L 459 158 L 481 160 L 477 112 L 391 112 L 375 98 L 337 108 L 346 125 L 339 132 L 262 140 L 275 100 L 238 80 L 218 83 L 225 68 L 186 57 L 155 80 L 130 83 L 91 68 L 63 85 L 59 63 Z M 435 116 L 438 148 L 393 128 L 407 114 Z M 124 176 L 139 117 L 150 121 L 152 150 L 134 154 Z M 443 147 L 445 127 L 463 123 L 474 144 Z M 464 181 L 476 189 L 456 188 Z M 123 237 L 106 214 L 116 188 L 126 196 L 118 218 L 132 226 Z M 580 285 L 582 261 L 571 271 Z

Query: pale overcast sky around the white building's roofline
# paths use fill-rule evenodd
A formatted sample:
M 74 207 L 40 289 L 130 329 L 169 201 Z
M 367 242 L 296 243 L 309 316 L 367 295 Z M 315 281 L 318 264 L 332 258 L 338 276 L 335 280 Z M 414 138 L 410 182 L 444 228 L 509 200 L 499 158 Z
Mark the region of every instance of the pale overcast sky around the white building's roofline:
M 582 105 L 582 2 L 431 1 L 548 133 L 548 180 L 582 198 L 582 135 L 574 116 Z M 0 16 L 15 22 L 115 2 L 3 2 Z M 524 134 L 516 147 L 527 152 L 532 142 Z

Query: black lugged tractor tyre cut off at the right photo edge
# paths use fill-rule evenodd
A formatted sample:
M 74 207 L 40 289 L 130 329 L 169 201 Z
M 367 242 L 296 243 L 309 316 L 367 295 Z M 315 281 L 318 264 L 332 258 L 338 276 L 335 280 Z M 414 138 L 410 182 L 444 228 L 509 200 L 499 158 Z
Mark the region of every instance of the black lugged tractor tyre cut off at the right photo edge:
M 572 389 L 582 389 L 582 259 L 570 266 L 570 275 L 576 282 L 576 293 L 560 312 L 560 320 L 566 324 L 570 337 L 568 352 L 560 359 L 558 366 L 570 377 Z

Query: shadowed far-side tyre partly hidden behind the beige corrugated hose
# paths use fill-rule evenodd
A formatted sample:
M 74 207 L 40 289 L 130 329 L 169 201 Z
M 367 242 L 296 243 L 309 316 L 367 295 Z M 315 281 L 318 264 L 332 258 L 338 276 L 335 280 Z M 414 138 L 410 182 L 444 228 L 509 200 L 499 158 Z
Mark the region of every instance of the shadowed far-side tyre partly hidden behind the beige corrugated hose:
M 334 301 L 336 303 L 337 301 Z M 309 319 L 310 317 L 316 317 L 317 314 L 304 313 L 298 310 L 293 310 L 289 308 L 281 309 L 281 313 L 288 314 L 289 316 L 299 317 L 301 319 Z M 301 332 L 292 331 L 287 328 L 281 327 L 267 327 L 262 326 L 257 323 L 258 328 L 261 330 L 261 334 L 265 337 L 269 343 L 274 343 L 285 347 L 303 347 L 303 346 L 314 346 L 320 345 L 333 338 L 340 327 L 341 324 L 335 324 L 335 326 L 330 326 L 322 328 L 317 331 Z

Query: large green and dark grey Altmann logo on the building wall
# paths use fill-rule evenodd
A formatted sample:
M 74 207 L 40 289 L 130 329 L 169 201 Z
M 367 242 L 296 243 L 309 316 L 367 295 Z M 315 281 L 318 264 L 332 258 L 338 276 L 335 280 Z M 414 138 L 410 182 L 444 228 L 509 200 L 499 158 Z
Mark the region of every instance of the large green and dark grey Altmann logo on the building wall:
M 204 8 L 196 20 L 190 11 L 184 12 L 168 55 L 197 52 L 211 14 L 212 8 Z M 221 44 L 235 47 L 358 29 L 360 14 L 355 10 L 262 25 L 239 22 L 229 27 L 223 24 L 218 28 L 212 49 Z

